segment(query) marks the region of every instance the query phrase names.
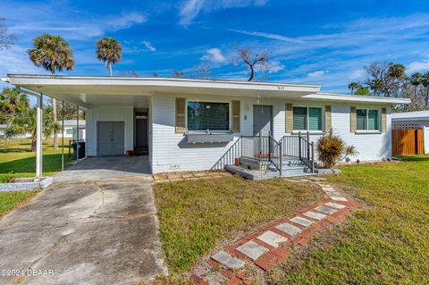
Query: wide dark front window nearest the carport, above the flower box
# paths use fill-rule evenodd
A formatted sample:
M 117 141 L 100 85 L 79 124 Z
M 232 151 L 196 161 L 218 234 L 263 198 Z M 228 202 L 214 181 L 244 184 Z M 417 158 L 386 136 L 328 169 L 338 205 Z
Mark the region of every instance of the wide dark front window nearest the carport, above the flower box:
M 189 101 L 188 130 L 230 130 L 228 103 Z

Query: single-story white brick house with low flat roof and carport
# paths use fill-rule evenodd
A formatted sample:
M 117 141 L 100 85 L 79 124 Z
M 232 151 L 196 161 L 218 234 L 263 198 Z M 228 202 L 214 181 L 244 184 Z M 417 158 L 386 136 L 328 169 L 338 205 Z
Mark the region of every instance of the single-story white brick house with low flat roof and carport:
M 13 74 L 3 80 L 87 108 L 88 156 L 147 150 L 153 173 L 239 162 L 280 172 L 298 162 L 311 171 L 312 142 L 331 128 L 357 147 L 354 159 L 380 160 L 391 156 L 391 106 L 409 102 L 286 83 Z

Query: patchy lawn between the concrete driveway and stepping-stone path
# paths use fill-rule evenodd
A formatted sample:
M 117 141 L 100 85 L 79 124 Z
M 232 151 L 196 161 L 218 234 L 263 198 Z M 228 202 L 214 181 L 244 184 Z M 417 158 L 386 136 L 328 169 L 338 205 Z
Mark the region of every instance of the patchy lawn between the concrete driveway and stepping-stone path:
M 239 177 L 156 184 L 155 195 L 162 247 L 172 273 L 188 271 L 223 239 L 321 198 L 310 184 Z

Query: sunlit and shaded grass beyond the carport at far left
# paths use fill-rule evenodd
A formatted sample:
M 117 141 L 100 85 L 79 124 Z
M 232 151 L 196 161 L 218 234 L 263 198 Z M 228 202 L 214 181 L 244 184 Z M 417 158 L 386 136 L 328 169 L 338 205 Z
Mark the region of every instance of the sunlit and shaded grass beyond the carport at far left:
M 52 139 L 44 141 L 44 176 L 61 171 L 61 143 L 58 150 L 54 150 L 52 145 Z M 36 172 L 36 153 L 31 152 L 29 147 L 29 139 L 11 139 L 8 145 L 0 144 L 0 174 L 13 172 L 15 178 L 33 177 Z M 64 147 L 64 163 L 70 161 L 68 148 Z

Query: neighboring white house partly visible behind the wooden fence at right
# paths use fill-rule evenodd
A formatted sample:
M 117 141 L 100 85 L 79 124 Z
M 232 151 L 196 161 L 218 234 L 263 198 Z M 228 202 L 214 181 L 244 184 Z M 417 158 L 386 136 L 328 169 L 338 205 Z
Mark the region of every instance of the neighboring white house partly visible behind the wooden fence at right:
M 423 129 L 425 154 L 429 154 L 429 110 L 392 113 L 392 129 Z

